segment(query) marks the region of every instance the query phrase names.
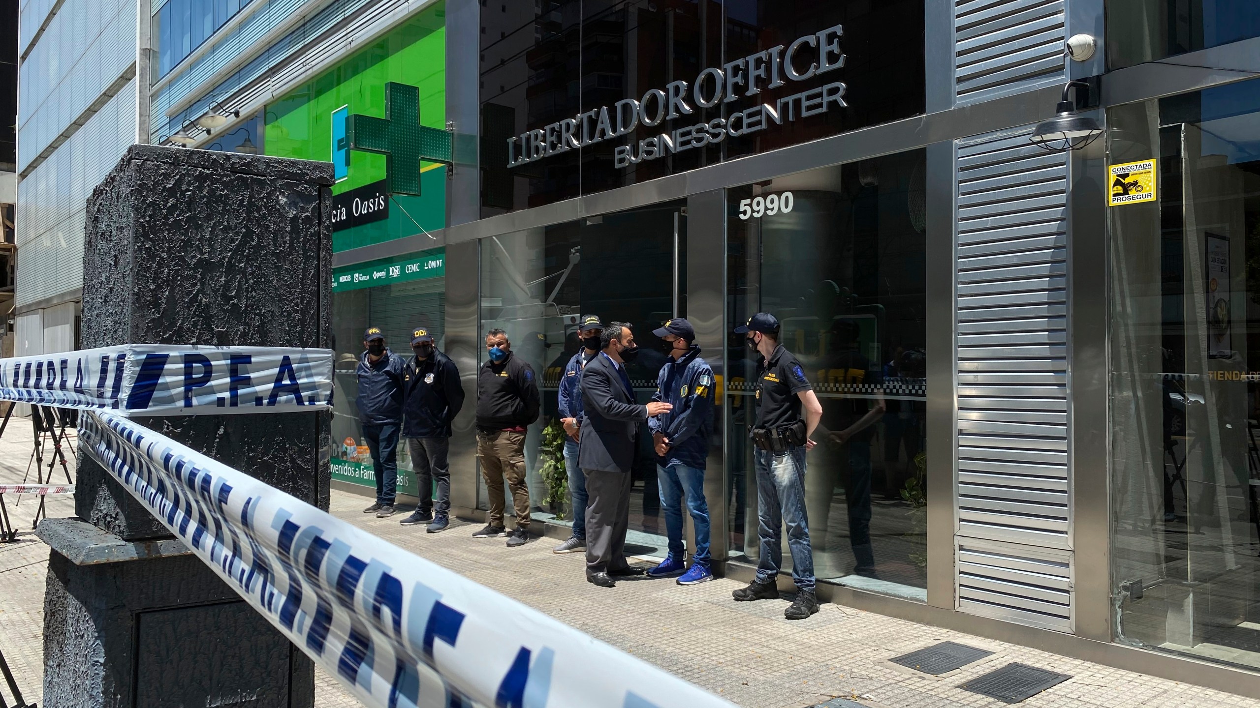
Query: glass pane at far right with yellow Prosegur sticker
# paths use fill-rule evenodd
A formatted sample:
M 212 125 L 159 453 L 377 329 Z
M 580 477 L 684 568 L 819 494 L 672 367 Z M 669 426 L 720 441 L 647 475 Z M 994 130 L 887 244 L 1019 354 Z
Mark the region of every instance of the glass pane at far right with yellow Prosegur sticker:
M 1108 122 L 1120 640 L 1260 668 L 1260 82 Z

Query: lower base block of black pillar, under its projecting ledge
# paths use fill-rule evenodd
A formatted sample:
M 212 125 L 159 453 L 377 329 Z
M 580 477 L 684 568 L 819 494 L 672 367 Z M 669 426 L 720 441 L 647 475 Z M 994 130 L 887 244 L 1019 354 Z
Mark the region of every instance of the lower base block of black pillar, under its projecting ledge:
M 48 571 L 45 705 L 314 702 L 306 656 L 194 556 L 76 566 L 54 551 Z

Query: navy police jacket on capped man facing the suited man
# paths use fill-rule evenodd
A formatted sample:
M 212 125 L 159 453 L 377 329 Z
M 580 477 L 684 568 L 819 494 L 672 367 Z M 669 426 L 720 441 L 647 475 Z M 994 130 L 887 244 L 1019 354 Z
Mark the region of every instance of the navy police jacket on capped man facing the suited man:
M 669 438 L 669 451 L 664 457 L 656 456 L 656 464 L 703 470 L 708 461 L 708 438 L 713 432 L 713 369 L 701 359 L 699 346 L 692 345 L 690 351 L 677 362 L 665 362 L 651 399 L 674 407 L 648 421 L 653 433 L 664 433 Z

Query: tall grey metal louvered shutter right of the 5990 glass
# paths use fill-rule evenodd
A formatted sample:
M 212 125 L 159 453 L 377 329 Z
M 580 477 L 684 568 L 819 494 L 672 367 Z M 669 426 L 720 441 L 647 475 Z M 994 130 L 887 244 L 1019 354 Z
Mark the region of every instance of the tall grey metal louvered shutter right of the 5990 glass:
M 958 603 L 1070 630 L 1067 157 L 1029 132 L 956 142 Z M 968 539 L 1032 574 L 964 566 Z

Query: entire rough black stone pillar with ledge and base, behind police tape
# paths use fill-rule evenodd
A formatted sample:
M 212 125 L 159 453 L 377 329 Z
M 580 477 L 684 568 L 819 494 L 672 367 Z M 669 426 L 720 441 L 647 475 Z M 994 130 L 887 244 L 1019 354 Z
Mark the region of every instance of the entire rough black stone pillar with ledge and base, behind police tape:
M 134 145 L 92 193 L 83 348 L 330 346 L 328 163 Z M 328 509 L 329 413 L 139 422 Z M 40 525 L 49 707 L 306 707 L 314 666 L 87 455 Z

